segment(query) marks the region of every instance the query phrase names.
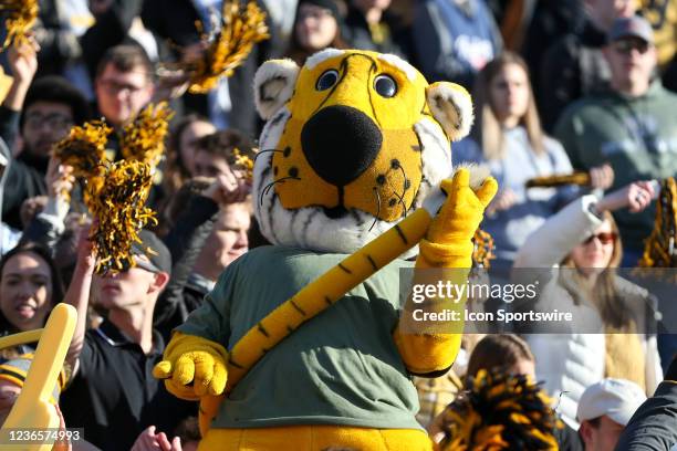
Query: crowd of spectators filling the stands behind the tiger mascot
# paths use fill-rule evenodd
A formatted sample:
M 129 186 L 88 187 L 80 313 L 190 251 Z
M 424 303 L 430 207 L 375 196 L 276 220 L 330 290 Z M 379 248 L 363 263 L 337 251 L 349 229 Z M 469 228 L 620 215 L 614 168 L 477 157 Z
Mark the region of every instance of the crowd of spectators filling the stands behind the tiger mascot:
M 499 182 L 481 224 L 498 277 L 544 270 L 539 308 L 569 308 L 594 323 L 585 332 L 598 331 L 467 334 L 446 375 L 415 378 L 417 419 L 430 438 L 444 439 L 444 410 L 487 369 L 542 382 L 563 420 L 563 450 L 677 444 L 677 339 L 657 332 L 655 296 L 616 272 L 642 255 L 657 181 L 677 176 L 677 2 L 258 3 L 271 38 L 208 94 L 186 93 L 159 63 L 199 57 L 220 0 L 40 0 L 30 41 L 0 54 L 12 76 L 0 105 L 0 335 L 41 327 L 58 302 L 77 308 L 54 398 L 65 423 L 84 428 L 91 448 L 82 449 L 196 449 L 197 405 L 169 395 L 152 370 L 219 274 L 265 244 L 250 186 L 233 169 L 238 155 L 253 158 L 262 126 L 254 71 L 273 57 L 303 64 L 327 48 L 394 53 L 428 82 L 472 93 L 476 124 L 452 157 L 488 167 Z M 106 156 L 119 159 L 122 128 L 158 101 L 176 112 L 148 200 L 159 224 L 142 232 L 136 266 L 96 275 L 82 192 L 52 146 L 72 126 L 104 118 L 113 128 Z M 590 182 L 527 187 L 574 171 Z M 0 415 L 22 386 L 11 375 L 32 352 L 4 352 Z

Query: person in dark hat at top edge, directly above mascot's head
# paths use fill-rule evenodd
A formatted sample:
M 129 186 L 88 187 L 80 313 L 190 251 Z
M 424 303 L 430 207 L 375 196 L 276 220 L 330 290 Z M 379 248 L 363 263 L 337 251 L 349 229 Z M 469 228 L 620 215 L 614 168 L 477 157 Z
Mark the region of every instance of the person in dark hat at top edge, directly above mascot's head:
M 287 56 L 303 65 L 306 57 L 321 50 L 346 49 L 341 28 L 334 0 L 300 0 Z

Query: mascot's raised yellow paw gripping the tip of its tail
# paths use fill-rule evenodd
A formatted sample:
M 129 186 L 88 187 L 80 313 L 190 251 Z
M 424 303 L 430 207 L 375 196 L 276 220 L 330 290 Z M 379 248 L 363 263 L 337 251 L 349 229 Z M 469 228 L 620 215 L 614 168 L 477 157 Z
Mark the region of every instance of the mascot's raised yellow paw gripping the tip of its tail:
M 470 241 L 482 222 L 485 209 L 498 190 L 496 179 L 487 177 L 483 183 L 473 190 L 470 187 L 470 172 L 460 168 L 454 179 L 442 180 L 440 188 L 447 199 L 428 228 L 426 241 L 433 245 L 471 247 Z

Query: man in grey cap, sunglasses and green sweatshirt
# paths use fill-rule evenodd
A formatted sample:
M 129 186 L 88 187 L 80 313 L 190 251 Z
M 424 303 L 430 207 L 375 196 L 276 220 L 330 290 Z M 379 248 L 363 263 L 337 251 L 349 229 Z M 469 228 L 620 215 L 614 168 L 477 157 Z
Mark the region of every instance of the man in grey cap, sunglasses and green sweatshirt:
M 638 179 L 674 177 L 677 94 L 653 78 L 657 60 L 648 22 L 639 17 L 616 20 L 604 55 L 612 72 L 611 91 L 584 97 L 567 108 L 558 122 L 555 137 L 577 169 L 610 164 L 615 175 L 612 189 Z M 639 260 L 655 214 L 654 207 L 640 214 L 614 212 L 625 245 L 623 266 Z

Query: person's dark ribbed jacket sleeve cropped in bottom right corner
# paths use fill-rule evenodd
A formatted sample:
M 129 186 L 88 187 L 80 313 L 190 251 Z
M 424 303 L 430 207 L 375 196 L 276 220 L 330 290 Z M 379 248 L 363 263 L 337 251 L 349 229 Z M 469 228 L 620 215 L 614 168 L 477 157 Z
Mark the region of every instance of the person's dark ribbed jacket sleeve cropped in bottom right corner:
M 618 451 L 677 450 L 677 354 L 654 396 L 635 411 L 623 430 Z

